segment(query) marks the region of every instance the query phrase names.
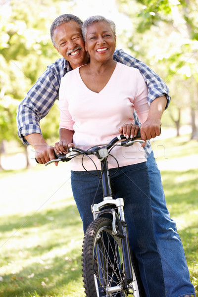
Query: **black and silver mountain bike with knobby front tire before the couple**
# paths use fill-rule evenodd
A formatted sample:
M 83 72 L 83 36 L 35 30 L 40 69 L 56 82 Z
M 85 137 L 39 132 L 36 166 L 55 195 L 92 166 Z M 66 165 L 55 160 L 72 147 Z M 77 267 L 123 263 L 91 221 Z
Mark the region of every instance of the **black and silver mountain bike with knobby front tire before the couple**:
M 138 263 L 129 247 L 124 201 L 123 198 L 113 198 L 107 163 L 110 150 L 114 146 L 131 146 L 135 142 L 144 142 L 137 138 L 140 138 L 140 130 L 136 138 L 126 139 L 120 135 L 102 147 L 95 146 L 86 151 L 68 148 L 66 155 L 54 152 L 56 159 L 45 164 L 47 166 L 52 162 L 69 161 L 79 154 L 93 154 L 101 162 L 99 184 L 102 181 L 103 201 L 92 204 L 94 220 L 87 228 L 82 249 L 83 282 L 87 297 L 145 296 Z M 106 208 L 109 205 L 111 207 Z M 107 218 L 109 215 L 110 218 Z

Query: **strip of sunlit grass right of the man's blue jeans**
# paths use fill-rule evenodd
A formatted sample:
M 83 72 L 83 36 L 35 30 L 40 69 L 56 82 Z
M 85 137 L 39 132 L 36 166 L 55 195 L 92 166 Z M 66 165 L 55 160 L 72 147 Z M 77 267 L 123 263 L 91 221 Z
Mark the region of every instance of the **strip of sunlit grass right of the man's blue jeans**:
M 176 221 L 198 297 L 198 142 L 189 135 L 152 143 L 171 218 Z

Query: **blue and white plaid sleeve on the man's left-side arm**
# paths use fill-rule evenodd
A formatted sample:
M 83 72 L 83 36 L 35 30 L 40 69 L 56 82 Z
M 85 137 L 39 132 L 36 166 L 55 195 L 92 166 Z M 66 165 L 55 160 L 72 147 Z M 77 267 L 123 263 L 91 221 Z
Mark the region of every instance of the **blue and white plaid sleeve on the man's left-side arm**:
M 58 59 L 48 66 L 26 97 L 19 104 L 16 116 L 18 136 L 29 145 L 25 136 L 40 133 L 40 120 L 45 117 L 58 99 L 59 85 L 63 73 L 64 59 Z

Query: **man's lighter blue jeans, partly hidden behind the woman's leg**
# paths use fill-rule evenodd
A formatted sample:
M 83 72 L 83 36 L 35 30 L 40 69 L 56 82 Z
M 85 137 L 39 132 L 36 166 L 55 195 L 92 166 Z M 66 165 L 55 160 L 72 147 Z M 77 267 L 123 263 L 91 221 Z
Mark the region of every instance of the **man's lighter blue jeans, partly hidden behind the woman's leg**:
M 153 152 L 147 159 L 150 178 L 150 198 L 154 233 L 160 252 L 166 297 L 194 295 L 195 289 L 190 281 L 184 248 L 177 233 L 176 224 L 170 218 Z

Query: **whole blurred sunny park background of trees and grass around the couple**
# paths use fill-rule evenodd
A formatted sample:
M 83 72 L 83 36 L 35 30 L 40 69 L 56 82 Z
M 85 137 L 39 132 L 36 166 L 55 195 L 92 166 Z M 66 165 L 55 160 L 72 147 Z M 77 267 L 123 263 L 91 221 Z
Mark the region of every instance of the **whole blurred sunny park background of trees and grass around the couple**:
M 64 13 L 112 19 L 117 48 L 170 89 L 152 148 L 198 297 L 198 0 L 0 0 L 0 297 L 85 297 L 69 162 L 36 164 L 15 119 L 19 102 L 60 57 L 49 28 Z M 53 146 L 58 100 L 41 127 Z

